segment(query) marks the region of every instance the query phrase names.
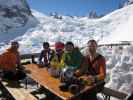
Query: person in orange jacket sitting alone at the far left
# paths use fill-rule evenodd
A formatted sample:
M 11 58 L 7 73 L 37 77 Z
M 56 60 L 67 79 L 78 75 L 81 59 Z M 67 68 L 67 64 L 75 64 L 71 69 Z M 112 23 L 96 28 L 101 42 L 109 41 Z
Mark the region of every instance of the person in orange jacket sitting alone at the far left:
M 9 80 L 21 80 L 26 75 L 21 68 L 19 43 L 12 42 L 11 47 L 0 55 L 0 69 L 3 71 L 3 78 Z

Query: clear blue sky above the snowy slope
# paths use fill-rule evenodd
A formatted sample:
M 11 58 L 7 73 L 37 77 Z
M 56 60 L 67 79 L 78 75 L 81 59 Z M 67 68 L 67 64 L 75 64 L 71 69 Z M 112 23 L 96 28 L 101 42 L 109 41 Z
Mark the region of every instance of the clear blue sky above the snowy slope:
M 27 0 L 32 9 L 45 14 L 57 12 L 62 15 L 84 16 L 90 10 L 107 14 L 118 8 L 120 0 Z

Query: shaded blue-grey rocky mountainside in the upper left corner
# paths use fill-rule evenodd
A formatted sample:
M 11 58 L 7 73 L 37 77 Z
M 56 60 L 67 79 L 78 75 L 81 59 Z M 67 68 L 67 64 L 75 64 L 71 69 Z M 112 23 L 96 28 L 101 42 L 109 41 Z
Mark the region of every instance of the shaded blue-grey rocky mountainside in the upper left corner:
M 26 0 L 0 0 L 0 42 L 23 35 L 36 23 Z

